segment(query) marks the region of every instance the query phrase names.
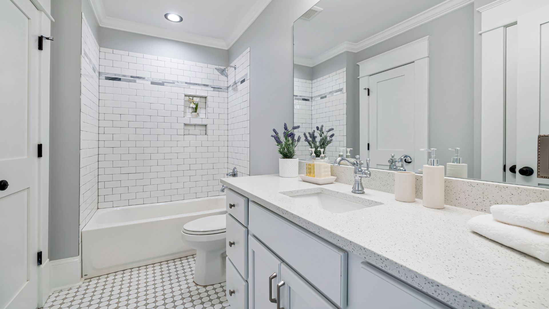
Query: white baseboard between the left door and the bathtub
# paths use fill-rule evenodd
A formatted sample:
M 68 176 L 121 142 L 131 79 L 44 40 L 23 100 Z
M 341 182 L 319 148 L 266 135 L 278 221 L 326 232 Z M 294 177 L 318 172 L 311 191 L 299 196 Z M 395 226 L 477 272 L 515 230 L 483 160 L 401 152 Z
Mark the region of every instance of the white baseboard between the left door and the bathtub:
M 49 264 L 49 290 L 51 293 L 72 288 L 82 282 L 79 256 L 49 261 Z

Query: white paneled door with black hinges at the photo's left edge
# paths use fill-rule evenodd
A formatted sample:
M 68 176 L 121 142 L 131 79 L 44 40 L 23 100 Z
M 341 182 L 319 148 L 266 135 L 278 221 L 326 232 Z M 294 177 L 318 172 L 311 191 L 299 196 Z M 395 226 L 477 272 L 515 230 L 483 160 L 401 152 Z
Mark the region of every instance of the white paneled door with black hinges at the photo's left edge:
M 37 307 L 38 10 L 0 1 L 0 308 Z

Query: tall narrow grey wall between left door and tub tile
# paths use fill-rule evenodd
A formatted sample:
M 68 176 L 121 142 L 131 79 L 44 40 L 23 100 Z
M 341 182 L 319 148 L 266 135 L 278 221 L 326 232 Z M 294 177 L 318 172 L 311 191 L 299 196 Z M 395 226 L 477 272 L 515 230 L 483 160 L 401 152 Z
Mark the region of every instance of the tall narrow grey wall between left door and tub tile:
M 49 259 L 79 255 L 82 3 L 52 1 Z

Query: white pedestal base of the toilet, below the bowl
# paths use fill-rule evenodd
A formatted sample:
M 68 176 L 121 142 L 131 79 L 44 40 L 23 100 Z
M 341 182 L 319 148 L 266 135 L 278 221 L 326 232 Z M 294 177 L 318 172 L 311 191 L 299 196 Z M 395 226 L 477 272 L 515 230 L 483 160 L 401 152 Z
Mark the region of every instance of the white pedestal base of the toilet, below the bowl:
M 212 285 L 225 282 L 226 260 L 225 247 L 216 251 L 197 249 L 194 259 L 194 283 Z

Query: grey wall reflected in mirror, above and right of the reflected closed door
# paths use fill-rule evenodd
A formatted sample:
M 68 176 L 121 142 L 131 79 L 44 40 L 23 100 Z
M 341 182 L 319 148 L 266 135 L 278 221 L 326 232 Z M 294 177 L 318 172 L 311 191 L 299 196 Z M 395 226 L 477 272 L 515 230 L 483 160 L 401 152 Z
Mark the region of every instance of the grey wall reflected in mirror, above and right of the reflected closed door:
M 460 147 L 464 163 L 468 164 L 469 175 L 473 175 L 475 168 L 473 10 L 473 4 L 469 4 L 355 55 L 355 63 L 357 63 L 418 38 L 431 36 L 429 41 L 429 147 L 441 150 L 438 152 L 438 158 L 441 164 L 445 165 L 451 162 L 453 154 L 447 148 Z M 357 87 L 355 90 L 357 97 L 358 91 Z

